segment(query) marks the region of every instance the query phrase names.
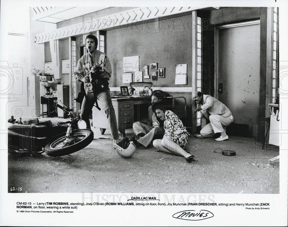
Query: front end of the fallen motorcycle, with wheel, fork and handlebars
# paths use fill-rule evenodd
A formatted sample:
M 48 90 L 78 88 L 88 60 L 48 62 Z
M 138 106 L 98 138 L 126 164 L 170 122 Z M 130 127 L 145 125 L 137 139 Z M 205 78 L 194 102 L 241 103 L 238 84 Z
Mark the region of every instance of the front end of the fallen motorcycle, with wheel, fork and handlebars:
M 72 109 L 62 107 L 59 104 L 57 107 L 68 112 L 70 121 L 58 122 L 58 126 L 69 124 L 67 131 L 49 139 L 45 146 L 45 153 L 53 157 L 79 151 L 89 145 L 94 137 L 93 131 L 86 129 L 86 122 L 77 117 Z

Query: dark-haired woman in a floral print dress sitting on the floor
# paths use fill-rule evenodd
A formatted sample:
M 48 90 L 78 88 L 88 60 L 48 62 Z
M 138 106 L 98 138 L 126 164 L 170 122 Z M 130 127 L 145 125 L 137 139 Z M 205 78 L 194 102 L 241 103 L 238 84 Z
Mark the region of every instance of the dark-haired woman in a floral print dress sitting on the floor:
M 195 157 L 183 150 L 187 145 L 189 133 L 183 126 L 180 118 L 171 110 L 166 110 L 166 107 L 167 106 L 163 102 L 152 105 L 152 110 L 155 112 L 160 122 L 163 122 L 163 128 L 165 130 L 163 139 L 154 140 L 153 146 L 160 151 L 184 156 L 187 162 L 192 162 Z

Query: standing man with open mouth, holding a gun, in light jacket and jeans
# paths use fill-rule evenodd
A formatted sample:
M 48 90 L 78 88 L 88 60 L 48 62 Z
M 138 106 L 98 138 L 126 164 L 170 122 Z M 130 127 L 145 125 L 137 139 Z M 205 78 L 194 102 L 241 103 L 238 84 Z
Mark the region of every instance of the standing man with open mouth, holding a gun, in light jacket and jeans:
M 103 109 L 108 118 L 114 145 L 118 143 L 118 129 L 108 86 L 108 80 L 111 77 L 111 64 L 105 53 L 96 50 L 98 39 L 94 35 L 87 35 L 85 41 L 88 53 L 79 59 L 74 70 L 75 79 L 84 82 L 86 93 L 82 102 L 80 117 L 86 122 L 87 128 L 91 129 L 89 114 L 95 102 L 96 107 L 100 110 L 97 99 L 100 100 L 104 104 Z

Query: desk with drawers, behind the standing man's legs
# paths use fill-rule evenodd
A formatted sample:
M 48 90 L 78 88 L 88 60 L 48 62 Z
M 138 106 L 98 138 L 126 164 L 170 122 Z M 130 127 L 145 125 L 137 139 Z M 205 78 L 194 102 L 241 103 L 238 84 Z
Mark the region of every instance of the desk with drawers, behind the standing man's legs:
M 92 108 L 92 122 L 94 128 L 100 128 L 101 134 L 105 133 L 106 128 L 110 128 L 107 116 L 103 111 L 103 103 L 98 101 L 101 108 Z M 151 105 L 149 97 L 112 97 L 112 105 L 115 109 L 115 116 L 118 130 L 125 137 L 125 129 L 133 128 L 133 123 L 140 120 L 148 120 L 148 107 Z

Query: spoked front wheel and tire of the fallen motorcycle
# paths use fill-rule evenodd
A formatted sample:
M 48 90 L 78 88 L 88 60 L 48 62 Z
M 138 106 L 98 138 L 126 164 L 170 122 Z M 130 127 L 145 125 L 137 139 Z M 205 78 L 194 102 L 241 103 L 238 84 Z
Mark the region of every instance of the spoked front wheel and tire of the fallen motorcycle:
M 45 146 L 45 153 L 53 157 L 71 154 L 86 147 L 94 138 L 90 129 L 76 129 L 72 133 L 69 139 L 66 132 L 51 138 Z

